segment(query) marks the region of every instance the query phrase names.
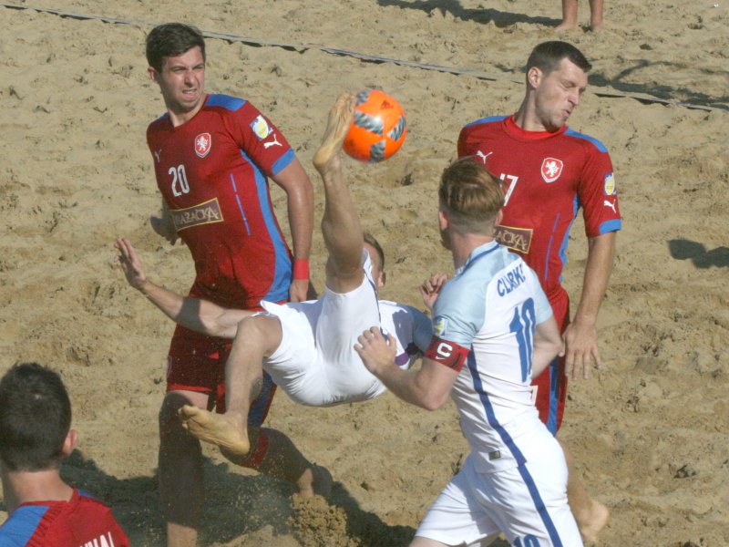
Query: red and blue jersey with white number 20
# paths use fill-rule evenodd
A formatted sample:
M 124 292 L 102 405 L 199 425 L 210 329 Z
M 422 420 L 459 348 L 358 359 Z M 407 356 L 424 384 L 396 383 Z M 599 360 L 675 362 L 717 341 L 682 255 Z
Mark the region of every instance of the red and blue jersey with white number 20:
M 291 253 L 267 180 L 294 158 L 281 132 L 251 103 L 209 95 L 177 128 L 168 115 L 153 121 L 147 142 L 199 295 L 234 307 L 288 298 Z

